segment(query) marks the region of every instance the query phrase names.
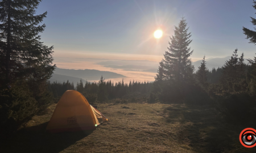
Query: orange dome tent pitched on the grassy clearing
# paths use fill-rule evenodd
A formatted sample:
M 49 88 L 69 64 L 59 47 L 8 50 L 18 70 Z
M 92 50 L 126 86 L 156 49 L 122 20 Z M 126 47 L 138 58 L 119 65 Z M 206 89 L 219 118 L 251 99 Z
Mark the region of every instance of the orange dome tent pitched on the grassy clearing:
M 104 121 L 108 118 L 92 107 L 80 92 L 68 90 L 57 103 L 46 130 L 52 133 L 90 130 Z

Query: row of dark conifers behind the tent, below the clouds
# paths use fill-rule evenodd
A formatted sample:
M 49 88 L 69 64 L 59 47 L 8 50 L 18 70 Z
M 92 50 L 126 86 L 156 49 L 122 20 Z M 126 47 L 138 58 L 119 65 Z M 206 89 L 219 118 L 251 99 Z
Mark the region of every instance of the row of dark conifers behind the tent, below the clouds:
M 85 82 L 80 80 L 79 83 L 74 86 L 70 82 L 48 82 L 48 89 L 52 92 L 53 97 L 57 100 L 67 90 L 77 90 L 83 94 L 89 103 L 104 102 L 112 99 L 121 99 L 127 94 L 139 94 L 148 95 L 151 91 L 152 83 L 134 81 L 124 83 L 123 80 L 119 82 L 112 82 L 111 80 L 105 81 L 103 76 L 98 82 Z

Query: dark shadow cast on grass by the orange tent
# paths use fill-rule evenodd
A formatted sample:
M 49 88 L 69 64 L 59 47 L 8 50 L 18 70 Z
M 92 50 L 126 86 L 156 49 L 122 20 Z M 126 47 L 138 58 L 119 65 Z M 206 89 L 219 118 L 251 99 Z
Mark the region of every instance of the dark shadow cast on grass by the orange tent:
M 93 130 L 46 133 L 48 122 L 23 129 L 1 147 L 3 152 L 60 152 L 93 133 Z

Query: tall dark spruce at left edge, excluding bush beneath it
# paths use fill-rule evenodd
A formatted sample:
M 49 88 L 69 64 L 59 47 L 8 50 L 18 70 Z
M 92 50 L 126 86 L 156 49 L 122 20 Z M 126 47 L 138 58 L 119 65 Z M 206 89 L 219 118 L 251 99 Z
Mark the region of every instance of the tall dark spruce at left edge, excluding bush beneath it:
M 47 12 L 35 15 L 42 0 L 0 1 L 0 75 L 1 84 L 14 83 L 16 79 L 32 79 L 45 82 L 52 74 L 52 49 L 40 42 L 39 33 L 45 24 L 39 25 Z M 4 76 L 4 77 L 3 77 Z

